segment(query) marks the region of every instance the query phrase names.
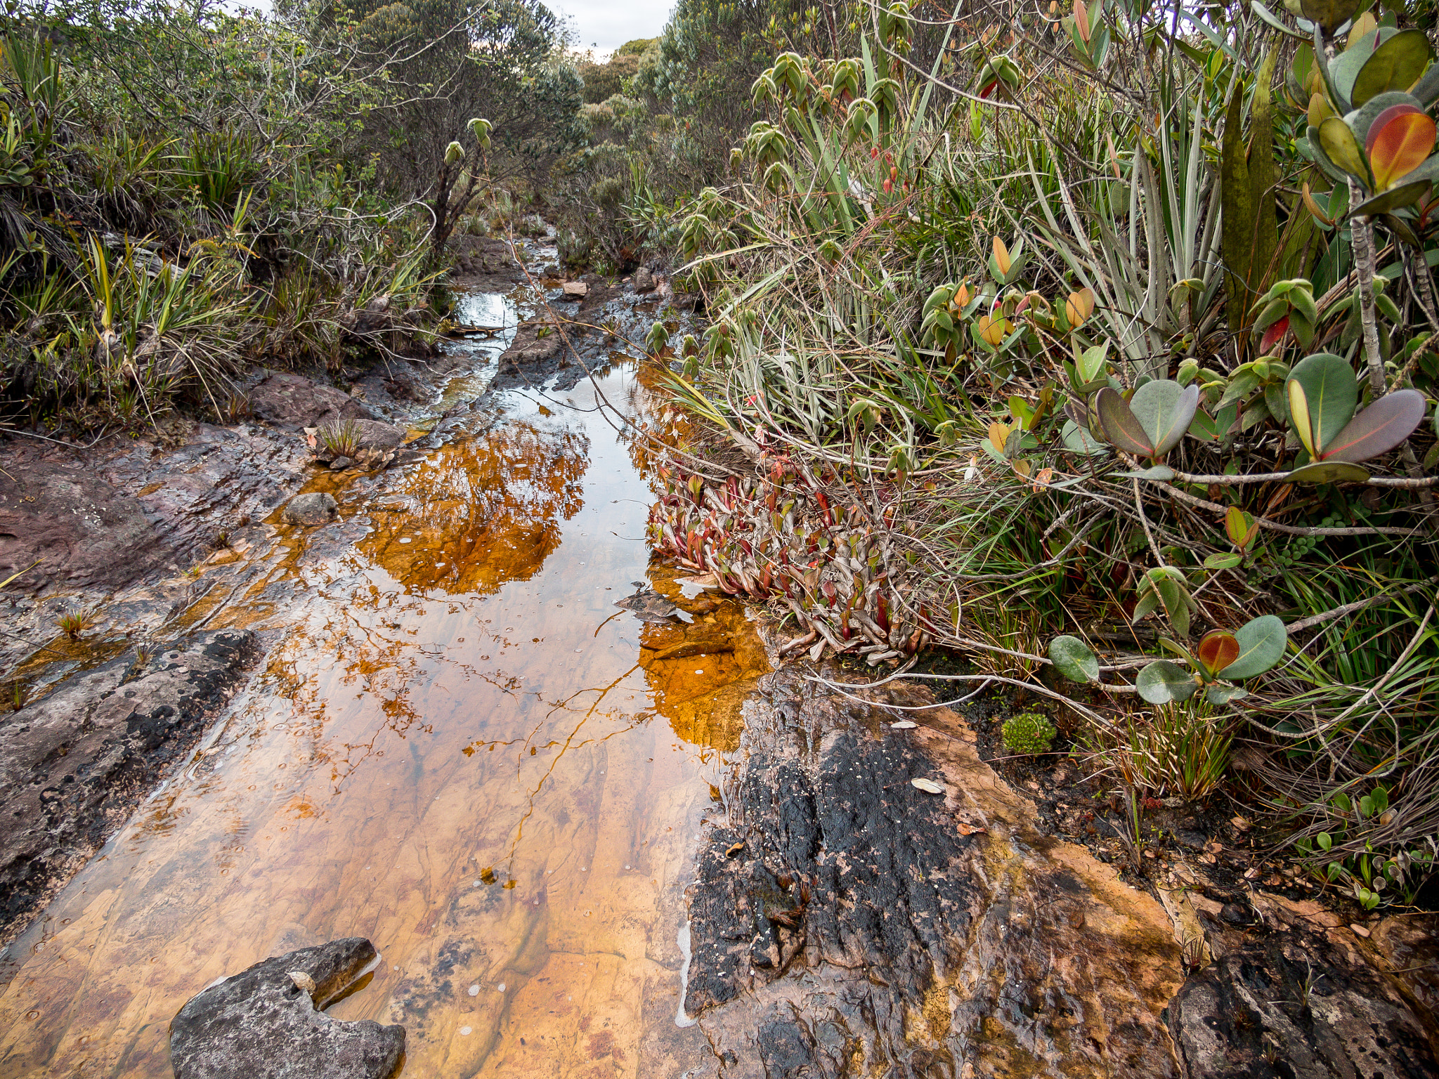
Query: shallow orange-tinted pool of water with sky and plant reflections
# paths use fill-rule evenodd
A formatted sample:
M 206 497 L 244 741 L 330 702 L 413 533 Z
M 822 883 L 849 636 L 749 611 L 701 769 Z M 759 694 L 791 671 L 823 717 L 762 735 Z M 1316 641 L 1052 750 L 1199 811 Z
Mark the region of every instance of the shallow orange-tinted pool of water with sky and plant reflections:
M 645 407 L 630 364 L 602 384 Z M 403 1023 L 406 1076 L 696 1063 L 673 1021 L 682 889 L 766 665 L 732 604 L 678 626 L 613 606 L 646 575 L 679 598 L 649 567 L 636 460 L 597 413 L 512 396 L 384 489 L 317 479 L 370 531 L 334 557 L 278 534 L 266 580 L 210 622 L 282 632 L 196 761 L 10 947 L 0 1076 L 168 1076 L 190 996 L 350 935 L 383 964 L 330 1014 Z M 707 643 L 653 660 L 678 642 Z

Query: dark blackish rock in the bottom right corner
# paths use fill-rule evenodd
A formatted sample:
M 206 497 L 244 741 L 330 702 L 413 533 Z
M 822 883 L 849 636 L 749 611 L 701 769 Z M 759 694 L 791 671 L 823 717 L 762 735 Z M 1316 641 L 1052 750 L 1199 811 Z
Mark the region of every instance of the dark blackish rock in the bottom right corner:
M 1193 975 L 1167 1019 L 1184 1079 L 1439 1075 L 1433 1016 L 1353 948 L 1299 928 Z

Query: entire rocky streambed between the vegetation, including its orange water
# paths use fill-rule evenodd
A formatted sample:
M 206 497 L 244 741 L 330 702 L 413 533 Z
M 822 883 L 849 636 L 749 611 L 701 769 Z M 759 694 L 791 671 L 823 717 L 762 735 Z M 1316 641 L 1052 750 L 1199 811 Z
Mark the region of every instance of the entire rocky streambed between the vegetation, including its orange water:
M 550 291 L 642 340 L 642 283 Z M 271 374 L 262 416 L 94 482 L 35 457 L 105 508 L 26 534 L 55 573 L 16 632 L 96 617 L 0 725 L 0 1076 L 252 1043 L 446 1079 L 1435 1073 L 1425 929 L 1196 914 L 1046 834 L 922 691 L 771 670 L 645 544 L 655 460 L 600 404 L 653 423 L 658 368 L 535 301 L 476 293 L 469 344 L 348 394 Z M 325 416 L 374 424 L 366 468 L 311 452 Z

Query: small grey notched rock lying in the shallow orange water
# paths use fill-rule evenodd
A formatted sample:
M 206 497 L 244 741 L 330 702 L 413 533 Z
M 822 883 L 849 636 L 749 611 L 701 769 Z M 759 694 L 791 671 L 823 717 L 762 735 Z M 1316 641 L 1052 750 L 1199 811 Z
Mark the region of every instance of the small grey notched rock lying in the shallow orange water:
M 404 1027 L 318 1010 L 378 958 L 351 937 L 256 962 L 191 997 L 170 1023 L 176 1079 L 390 1079 Z

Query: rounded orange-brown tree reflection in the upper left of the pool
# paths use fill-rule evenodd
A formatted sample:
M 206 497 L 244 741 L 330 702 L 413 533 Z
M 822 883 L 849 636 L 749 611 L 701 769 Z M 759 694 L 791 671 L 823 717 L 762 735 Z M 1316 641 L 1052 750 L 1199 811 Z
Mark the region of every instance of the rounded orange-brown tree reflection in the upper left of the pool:
M 584 505 L 587 466 L 589 439 L 574 430 L 514 422 L 449 443 L 406 476 L 410 512 L 377 512 L 360 552 L 422 591 L 486 593 L 525 580 Z

